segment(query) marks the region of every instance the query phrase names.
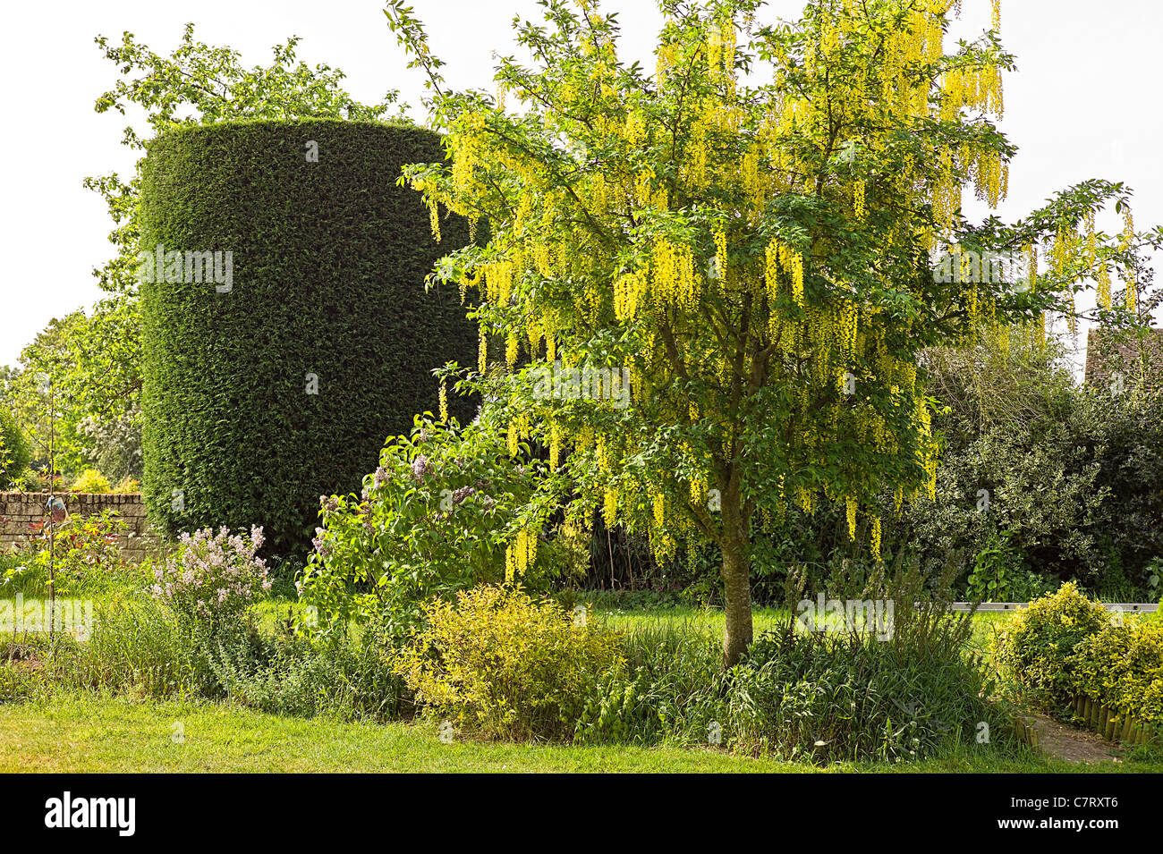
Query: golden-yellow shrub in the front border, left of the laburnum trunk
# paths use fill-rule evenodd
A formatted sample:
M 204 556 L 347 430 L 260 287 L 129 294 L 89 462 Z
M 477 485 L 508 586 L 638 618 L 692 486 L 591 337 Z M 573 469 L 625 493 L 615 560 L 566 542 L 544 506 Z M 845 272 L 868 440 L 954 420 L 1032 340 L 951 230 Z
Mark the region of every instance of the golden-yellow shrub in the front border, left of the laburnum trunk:
M 485 735 L 568 739 L 598 677 L 626 667 L 614 632 L 519 588 L 434 600 L 424 617 L 393 669 L 419 705 Z

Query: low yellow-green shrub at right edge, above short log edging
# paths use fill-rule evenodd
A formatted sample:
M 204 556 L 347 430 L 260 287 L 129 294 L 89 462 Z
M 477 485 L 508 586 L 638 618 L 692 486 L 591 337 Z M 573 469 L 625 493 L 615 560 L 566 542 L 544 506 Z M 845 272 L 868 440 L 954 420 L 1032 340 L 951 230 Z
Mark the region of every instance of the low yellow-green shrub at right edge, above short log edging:
M 1143 723 L 1163 724 L 1163 624 L 1130 618 L 1083 638 L 1065 661 L 1075 690 Z

